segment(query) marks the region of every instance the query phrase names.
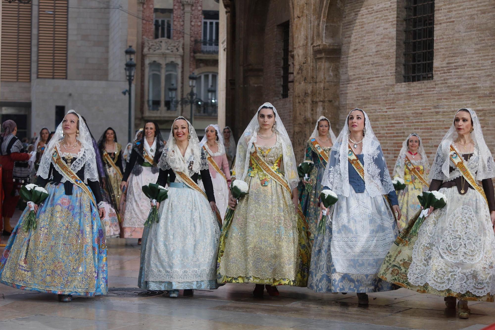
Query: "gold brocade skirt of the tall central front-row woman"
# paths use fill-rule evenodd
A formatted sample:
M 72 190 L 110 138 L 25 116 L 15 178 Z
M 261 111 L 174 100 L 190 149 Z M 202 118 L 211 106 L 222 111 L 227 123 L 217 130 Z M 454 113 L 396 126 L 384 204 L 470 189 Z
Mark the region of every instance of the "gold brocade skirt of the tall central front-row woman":
M 307 224 L 291 194 L 270 179 L 248 177 L 249 194 L 225 223 L 218 252 L 218 283 L 307 285 L 311 255 Z

